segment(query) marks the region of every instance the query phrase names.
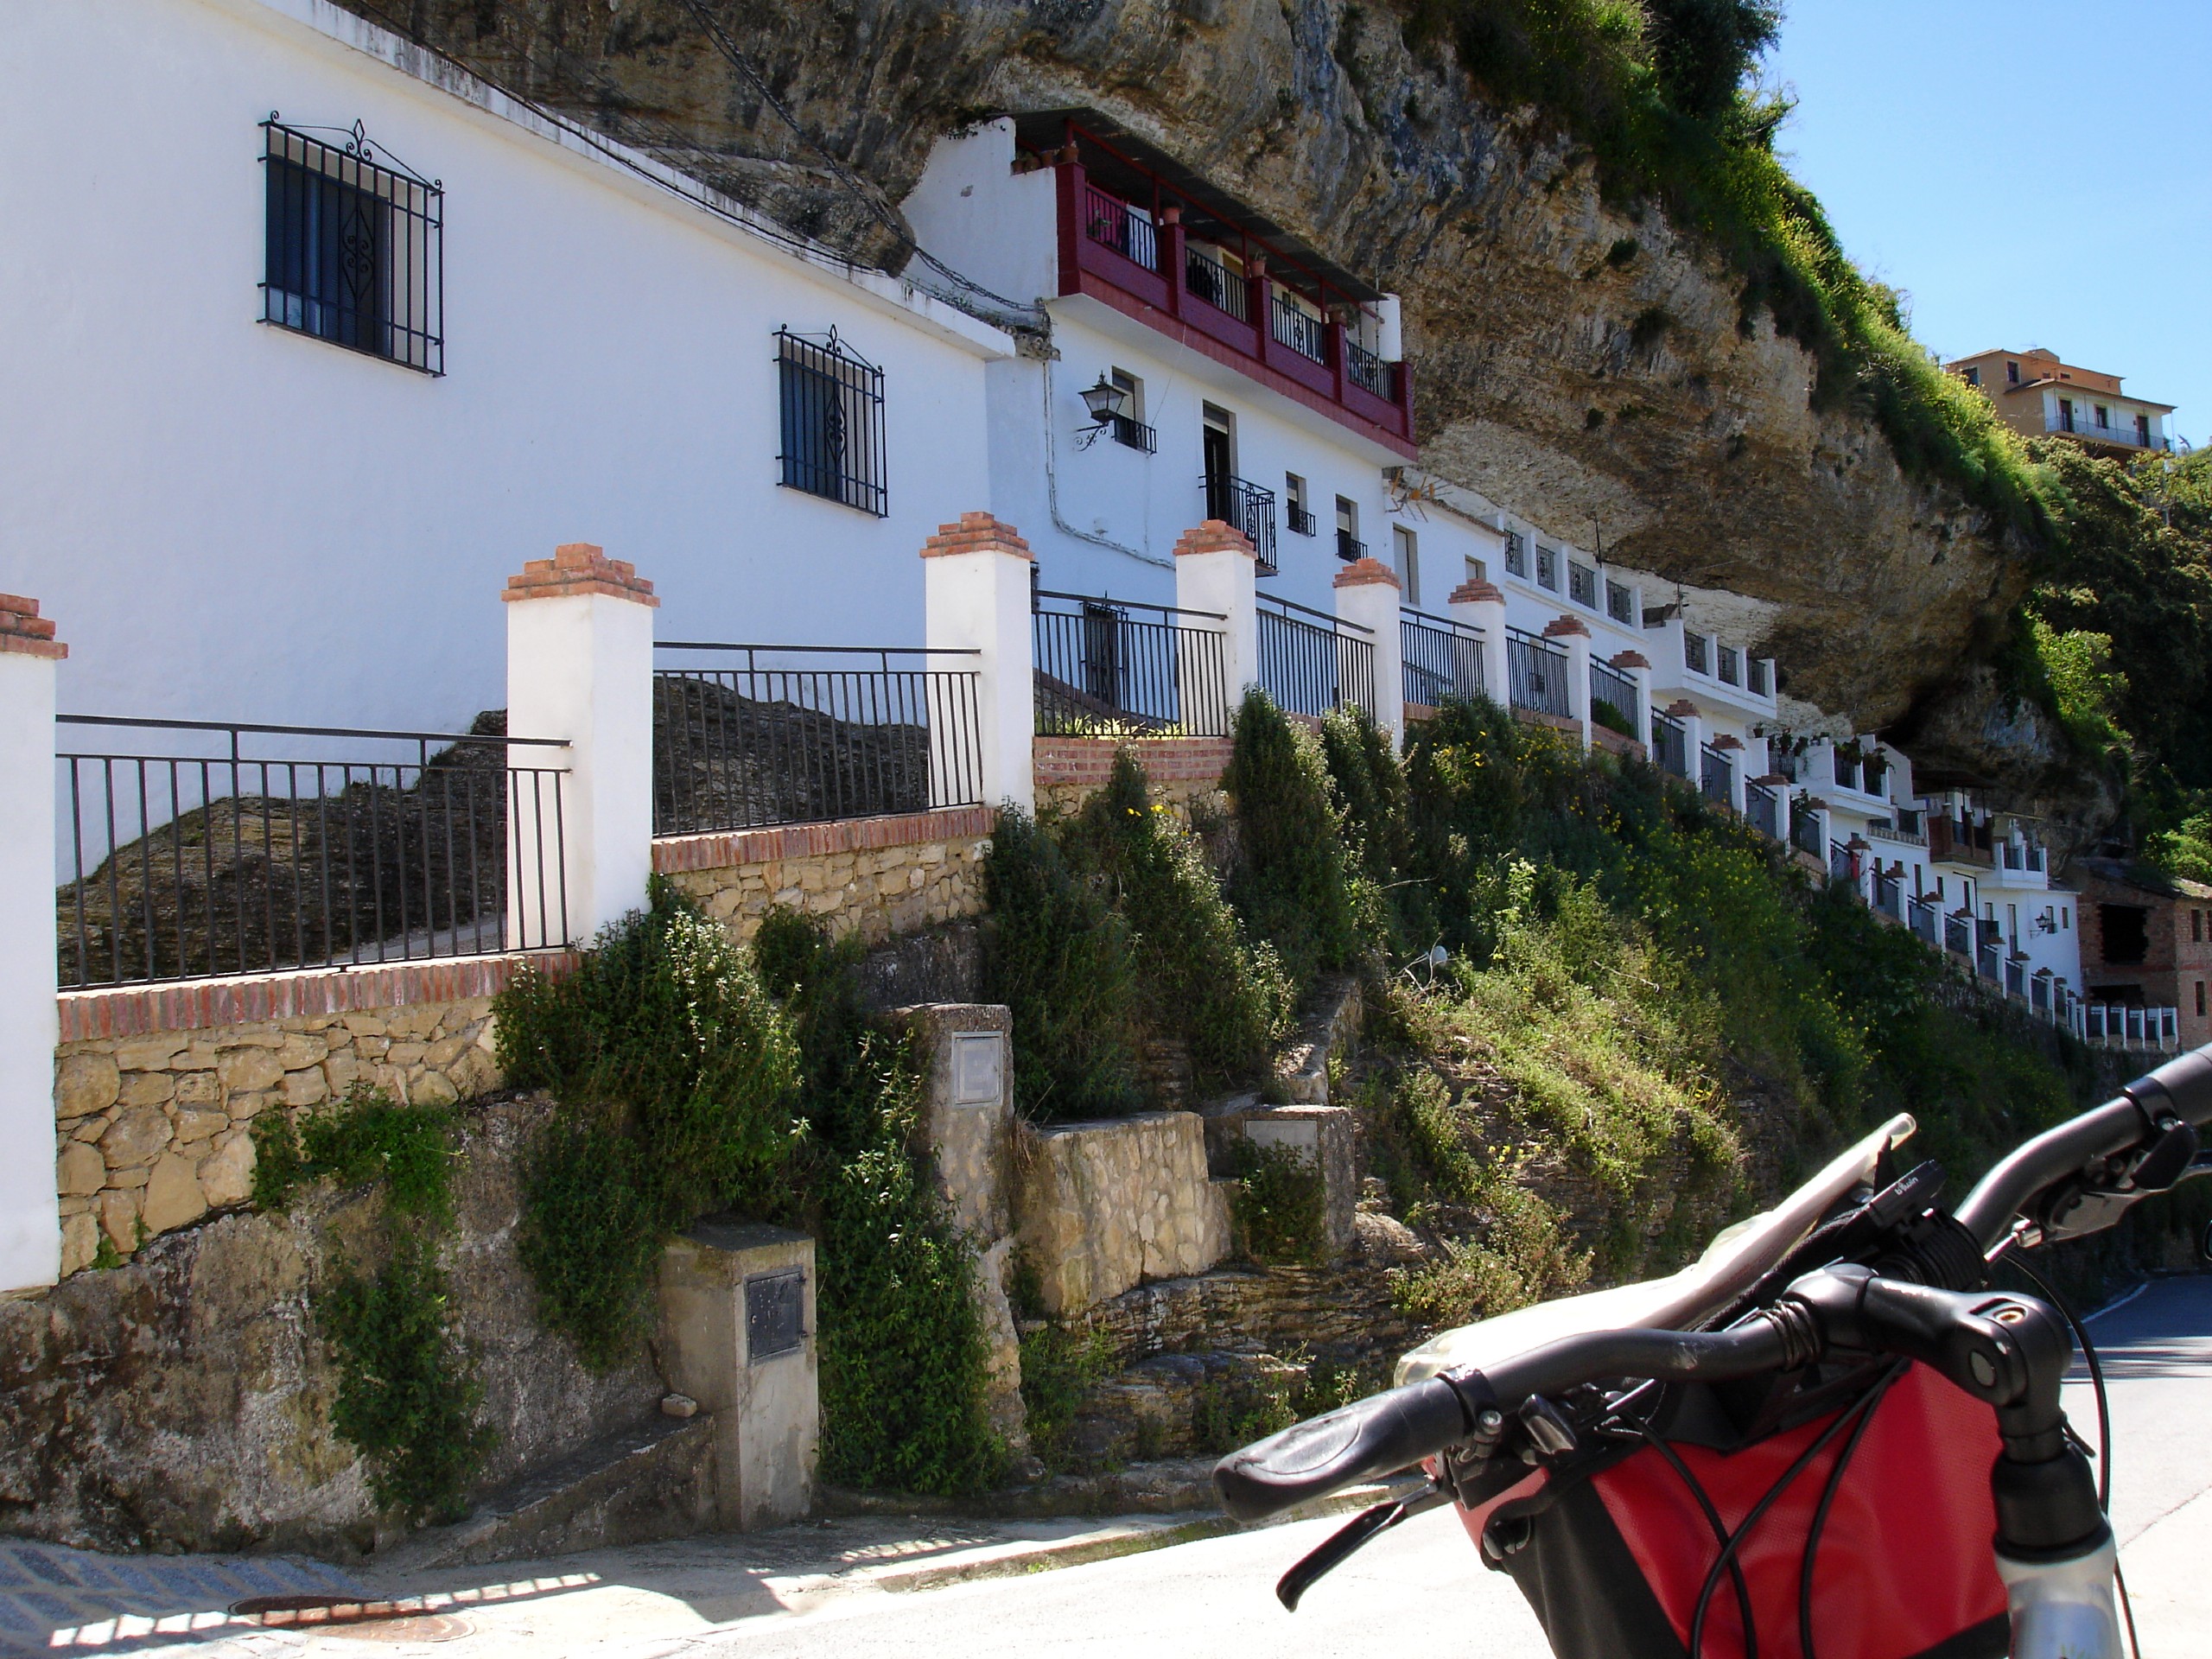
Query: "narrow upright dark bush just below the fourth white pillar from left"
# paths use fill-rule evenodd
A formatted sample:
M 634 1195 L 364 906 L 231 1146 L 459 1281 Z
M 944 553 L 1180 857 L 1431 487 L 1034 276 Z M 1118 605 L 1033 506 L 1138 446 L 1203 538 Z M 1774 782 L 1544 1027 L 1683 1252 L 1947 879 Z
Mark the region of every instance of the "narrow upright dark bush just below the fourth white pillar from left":
M 1237 816 L 1230 902 L 1292 984 L 1349 967 L 1360 947 L 1352 854 L 1329 799 L 1321 743 L 1256 686 L 1237 708 L 1221 776 Z

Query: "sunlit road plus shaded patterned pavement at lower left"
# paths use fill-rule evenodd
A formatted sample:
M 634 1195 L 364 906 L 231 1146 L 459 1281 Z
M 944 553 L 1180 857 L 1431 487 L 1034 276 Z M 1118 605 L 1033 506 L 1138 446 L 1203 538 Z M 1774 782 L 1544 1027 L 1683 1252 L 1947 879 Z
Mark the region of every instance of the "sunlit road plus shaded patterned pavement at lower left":
M 2212 1648 L 2212 1276 L 2157 1281 L 2093 1316 L 2115 1416 L 2112 1520 L 2143 1650 Z M 2093 1431 L 2088 1389 L 2068 1411 Z M 1157 1524 L 1157 1522 L 1155 1522 Z M 544 1564 L 456 1571 L 385 1593 L 451 1595 L 447 1630 L 363 1637 L 241 1630 L 223 1615 L 252 1590 L 341 1588 L 345 1575 L 254 1557 L 97 1557 L 0 1540 L 0 1655 L 148 1652 L 195 1659 L 1316 1659 L 1378 1644 L 1405 1655 L 1546 1659 L 1511 1582 L 1482 1571 L 1451 1513 L 1425 1515 L 1318 1584 L 1296 1615 L 1272 1586 L 1340 1520 L 1239 1533 L 1144 1555 L 949 1588 L 894 1588 L 907 1566 L 1035 1548 L 1086 1524 L 902 1526 L 838 1522 L 748 1537 L 593 1551 Z M 1079 1537 L 1077 1537 L 1079 1535 Z M 858 1568 L 858 1571 L 856 1571 Z M 907 1573 L 905 1582 L 916 1582 Z M 416 1637 L 416 1641 L 409 1641 Z

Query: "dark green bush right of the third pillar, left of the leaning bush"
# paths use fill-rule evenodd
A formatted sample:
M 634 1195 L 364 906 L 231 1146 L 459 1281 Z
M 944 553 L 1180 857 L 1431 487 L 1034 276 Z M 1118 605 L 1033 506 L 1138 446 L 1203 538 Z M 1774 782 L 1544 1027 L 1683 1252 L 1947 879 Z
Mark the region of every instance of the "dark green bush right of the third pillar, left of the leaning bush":
M 1121 1117 L 1137 1084 L 1128 929 L 1026 814 L 1002 810 L 982 865 L 984 984 L 1013 1013 L 1013 1097 L 1037 1121 Z

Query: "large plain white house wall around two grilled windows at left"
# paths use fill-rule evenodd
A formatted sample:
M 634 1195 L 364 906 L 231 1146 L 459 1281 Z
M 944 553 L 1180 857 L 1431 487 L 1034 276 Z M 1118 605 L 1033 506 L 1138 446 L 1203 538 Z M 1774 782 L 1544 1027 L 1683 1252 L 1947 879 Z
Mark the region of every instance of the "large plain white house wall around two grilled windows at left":
M 1006 336 L 341 42 L 394 51 L 316 0 L 9 4 L 0 591 L 71 639 L 62 708 L 451 728 L 573 540 L 664 637 L 920 644 Z M 445 378 L 257 321 L 272 108 L 442 179 Z M 774 482 L 779 325 L 885 365 L 887 520 Z

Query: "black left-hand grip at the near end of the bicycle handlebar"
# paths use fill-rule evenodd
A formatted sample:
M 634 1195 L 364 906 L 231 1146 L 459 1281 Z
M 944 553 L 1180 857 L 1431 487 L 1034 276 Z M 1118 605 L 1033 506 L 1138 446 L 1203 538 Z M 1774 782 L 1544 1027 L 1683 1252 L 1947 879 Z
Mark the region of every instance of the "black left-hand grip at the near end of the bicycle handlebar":
M 1214 1464 L 1221 1506 L 1241 1522 L 1391 1475 L 1467 1438 L 1460 1391 L 1440 1376 L 1294 1422 Z

